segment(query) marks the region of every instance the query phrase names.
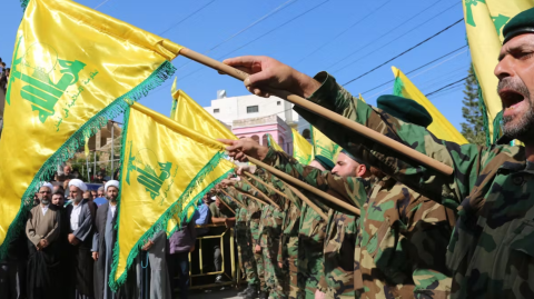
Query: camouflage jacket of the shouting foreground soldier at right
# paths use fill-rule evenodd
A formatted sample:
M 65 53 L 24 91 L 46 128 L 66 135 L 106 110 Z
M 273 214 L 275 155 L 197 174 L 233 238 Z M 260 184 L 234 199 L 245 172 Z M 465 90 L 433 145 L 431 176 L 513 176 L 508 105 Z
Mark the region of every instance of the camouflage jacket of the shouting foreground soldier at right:
M 457 209 L 447 251 L 452 297 L 533 298 L 534 168 L 525 161 L 525 149 L 439 140 L 423 127 L 352 97 L 325 72 L 316 79 L 323 86 L 312 101 L 453 167 L 453 176 L 438 173 L 297 109 L 340 147 L 432 200 Z

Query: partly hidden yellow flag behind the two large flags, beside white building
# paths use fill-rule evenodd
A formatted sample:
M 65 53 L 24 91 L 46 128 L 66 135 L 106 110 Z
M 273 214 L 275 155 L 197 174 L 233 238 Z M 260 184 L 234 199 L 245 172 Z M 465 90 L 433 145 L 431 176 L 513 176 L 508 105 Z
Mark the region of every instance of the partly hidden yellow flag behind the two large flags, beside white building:
M 214 132 L 211 138 L 237 139 L 237 137 L 215 119 L 206 109 L 191 99 L 184 90 L 176 90 L 176 79 L 171 88 L 174 110 L 171 119 L 198 132 Z M 176 104 L 175 104 L 176 103 Z

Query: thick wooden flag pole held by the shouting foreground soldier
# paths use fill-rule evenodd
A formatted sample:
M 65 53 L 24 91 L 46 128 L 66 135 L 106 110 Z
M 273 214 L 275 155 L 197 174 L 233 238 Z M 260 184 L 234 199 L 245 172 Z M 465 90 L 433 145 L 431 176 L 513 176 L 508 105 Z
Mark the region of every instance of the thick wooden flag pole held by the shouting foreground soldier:
M 204 56 L 201 53 L 195 52 L 191 49 L 184 48 L 180 50 L 180 54 L 184 57 L 187 57 L 194 61 L 197 61 L 201 64 L 205 64 L 207 67 L 210 67 L 212 69 L 216 69 L 220 72 L 227 73 L 238 80 L 244 81 L 247 77 L 248 73 L 240 71 L 236 68 L 233 68 L 230 66 L 227 66 L 220 61 L 217 61 L 212 58 L 209 58 L 207 56 Z M 265 88 L 264 88 L 265 89 Z M 347 127 L 348 129 L 357 132 L 358 134 L 365 136 L 366 138 L 372 139 L 375 142 L 378 142 L 387 148 L 390 148 L 393 150 L 396 150 L 397 152 L 402 153 L 405 157 L 409 157 L 411 159 L 415 160 L 416 162 L 435 169 L 444 175 L 451 176 L 453 175 L 453 168 L 449 166 L 446 166 L 439 161 L 436 161 L 432 159 L 431 157 L 423 155 L 400 142 L 397 142 L 384 134 L 380 134 L 365 126 L 359 124 L 358 122 L 352 121 L 349 119 L 346 119 L 339 114 L 337 114 L 334 111 L 330 111 L 326 108 L 323 108 L 312 101 L 308 101 L 304 99 L 303 97 L 299 97 L 297 94 L 291 94 L 290 92 L 284 91 L 284 90 L 273 90 L 273 89 L 265 89 L 266 91 L 270 92 L 274 96 L 277 96 L 281 99 L 285 99 L 287 101 L 290 101 L 315 114 L 318 114 L 320 117 L 324 117 L 325 119 L 328 119 L 330 121 L 337 122 L 344 127 Z

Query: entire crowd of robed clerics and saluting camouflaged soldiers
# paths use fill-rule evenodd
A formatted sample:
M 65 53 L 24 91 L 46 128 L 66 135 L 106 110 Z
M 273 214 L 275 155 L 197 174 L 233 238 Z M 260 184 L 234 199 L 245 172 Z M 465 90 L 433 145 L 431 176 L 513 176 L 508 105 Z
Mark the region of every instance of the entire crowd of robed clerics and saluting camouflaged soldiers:
M 454 173 L 421 166 L 295 108 L 344 148 L 335 163 L 317 156 L 300 165 L 247 138 L 220 141 L 234 159 L 261 160 L 344 205 L 299 190 L 267 167 L 238 169 L 237 178 L 222 180 L 204 198 L 190 222 L 144 246 L 151 263 L 150 298 L 187 298 L 187 257 L 205 233 L 195 226 L 208 218 L 236 227 L 248 282 L 244 298 L 534 298 L 534 9 L 513 18 L 503 33 L 495 76 L 504 138 L 491 147 L 437 139 L 426 129 L 432 116 L 409 99 L 382 96 L 375 108 L 326 72 L 310 78 L 266 57 L 226 60 L 251 73 L 245 84 L 257 96 L 269 97 L 271 89 L 301 96 Z M 510 146 L 512 139 L 524 147 Z M 10 245 L 1 268 L 2 283 L 8 283 L 0 291 L 11 297 L 2 298 L 17 298 L 11 293 L 20 292 L 21 281 L 29 298 L 138 298 L 139 267 L 130 269 L 131 281 L 118 291 L 108 283 L 119 182 L 105 185 L 107 201 L 100 207 L 78 179 L 68 182 L 67 205 L 55 188 L 42 183 L 26 233 Z M 220 271 L 220 248 L 214 255 Z M 177 293 L 169 282 L 175 275 L 180 278 Z

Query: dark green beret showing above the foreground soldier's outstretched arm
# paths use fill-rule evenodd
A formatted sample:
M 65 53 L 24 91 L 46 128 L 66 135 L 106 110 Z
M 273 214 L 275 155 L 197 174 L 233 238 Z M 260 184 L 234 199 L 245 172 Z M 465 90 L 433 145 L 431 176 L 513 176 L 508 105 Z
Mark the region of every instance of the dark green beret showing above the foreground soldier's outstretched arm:
M 404 122 L 428 127 L 433 119 L 426 109 L 414 100 L 385 94 L 376 100 L 378 108 Z

